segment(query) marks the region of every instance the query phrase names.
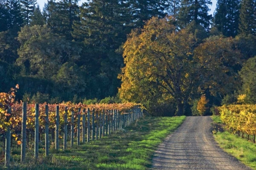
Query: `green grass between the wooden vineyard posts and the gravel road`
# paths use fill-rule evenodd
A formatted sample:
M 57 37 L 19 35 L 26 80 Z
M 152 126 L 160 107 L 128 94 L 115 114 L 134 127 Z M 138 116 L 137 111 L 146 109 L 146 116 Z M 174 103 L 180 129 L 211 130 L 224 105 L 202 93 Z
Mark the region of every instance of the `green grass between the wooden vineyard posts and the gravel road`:
M 20 165 L 13 155 L 11 169 L 102 169 L 143 170 L 151 167 L 153 153 L 161 141 L 183 121 L 182 117 L 146 117 L 97 141 L 74 146 L 65 151 L 51 150 L 51 156 L 40 156 L 37 162 Z M 16 153 L 15 149 L 13 150 Z M 42 151 L 43 154 L 43 151 Z M 1 168 L 1 166 L 0 166 Z

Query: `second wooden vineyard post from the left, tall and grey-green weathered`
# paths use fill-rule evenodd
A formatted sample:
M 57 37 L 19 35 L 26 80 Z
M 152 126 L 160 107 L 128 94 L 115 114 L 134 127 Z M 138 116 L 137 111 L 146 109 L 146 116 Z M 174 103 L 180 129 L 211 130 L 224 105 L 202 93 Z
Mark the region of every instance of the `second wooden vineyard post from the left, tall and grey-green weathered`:
M 23 163 L 26 156 L 26 121 L 27 121 L 27 103 L 22 103 L 22 148 L 20 155 L 20 162 Z

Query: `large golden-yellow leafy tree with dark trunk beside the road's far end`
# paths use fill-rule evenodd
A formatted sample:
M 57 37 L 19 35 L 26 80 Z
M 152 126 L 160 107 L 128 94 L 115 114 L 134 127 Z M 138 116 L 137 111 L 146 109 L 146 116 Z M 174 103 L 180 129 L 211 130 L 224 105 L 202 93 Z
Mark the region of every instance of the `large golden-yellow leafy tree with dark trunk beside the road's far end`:
M 193 61 L 195 38 L 186 30 L 177 31 L 172 18 L 153 17 L 141 30 L 134 30 L 124 44 L 120 97 L 128 101 L 147 100 L 165 94 L 174 98 L 177 115 L 198 82 Z

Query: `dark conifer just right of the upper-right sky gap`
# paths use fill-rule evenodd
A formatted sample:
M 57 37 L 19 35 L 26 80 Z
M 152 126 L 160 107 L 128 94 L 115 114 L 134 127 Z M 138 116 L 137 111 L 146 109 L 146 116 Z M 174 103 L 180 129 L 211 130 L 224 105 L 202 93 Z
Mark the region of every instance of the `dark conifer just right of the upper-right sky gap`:
M 240 0 L 218 0 L 214 26 L 225 36 L 236 36 L 239 26 Z

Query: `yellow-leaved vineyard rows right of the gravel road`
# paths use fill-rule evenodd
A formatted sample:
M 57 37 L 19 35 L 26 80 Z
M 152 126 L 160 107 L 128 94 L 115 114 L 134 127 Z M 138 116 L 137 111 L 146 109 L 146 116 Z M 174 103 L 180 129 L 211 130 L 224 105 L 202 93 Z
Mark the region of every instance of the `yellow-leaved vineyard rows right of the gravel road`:
M 255 143 L 256 105 L 223 105 L 219 108 L 222 122 L 234 134 Z

